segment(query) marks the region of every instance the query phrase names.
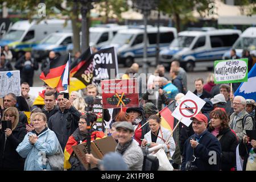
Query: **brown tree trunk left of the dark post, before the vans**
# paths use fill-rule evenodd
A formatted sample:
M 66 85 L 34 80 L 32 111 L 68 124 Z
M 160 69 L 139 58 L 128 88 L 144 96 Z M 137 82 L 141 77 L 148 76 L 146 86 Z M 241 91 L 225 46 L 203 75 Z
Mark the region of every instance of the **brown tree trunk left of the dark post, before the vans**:
M 77 26 L 79 22 L 79 9 L 76 3 L 73 3 L 73 18 L 71 19 L 72 30 L 73 30 L 73 55 L 77 51 L 80 51 L 80 28 Z

